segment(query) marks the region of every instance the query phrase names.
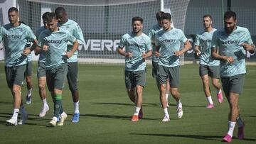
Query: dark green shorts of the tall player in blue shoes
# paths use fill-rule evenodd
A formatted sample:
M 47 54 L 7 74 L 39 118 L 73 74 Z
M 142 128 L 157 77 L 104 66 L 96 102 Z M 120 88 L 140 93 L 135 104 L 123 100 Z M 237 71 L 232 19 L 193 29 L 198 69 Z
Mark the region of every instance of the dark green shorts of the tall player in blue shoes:
M 78 62 L 68 62 L 68 87 L 71 92 L 78 90 Z

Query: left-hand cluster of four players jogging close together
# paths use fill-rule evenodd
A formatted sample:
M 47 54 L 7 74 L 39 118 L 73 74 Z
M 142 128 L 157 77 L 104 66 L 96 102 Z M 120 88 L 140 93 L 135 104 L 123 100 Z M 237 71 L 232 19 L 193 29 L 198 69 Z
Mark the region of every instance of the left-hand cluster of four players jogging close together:
M 73 123 L 80 118 L 78 93 L 78 46 L 85 43 L 82 30 L 78 23 L 68 19 L 63 7 L 55 12 L 43 14 L 43 24 L 36 35 L 26 24 L 18 21 L 18 9 L 11 7 L 8 11 L 9 24 L 0 29 L 0 40 L 4 41 L 6 81 L 14 96 L 14 113 L 6 123 L 10 125 L 24 124 L 28 118 L 21 99 L 21 86 L 24 75 L 28 86 L 26 104 L 31 104 L 31 51 L 39 56 L 38 88 L 43 101 L 40 117 L 49 110 L 46 101 L 46 83 L 54 103 L 53 118 L 50 126 L 63 126 L 68 117 L 63 111 L 62 90 L 65 77 L 68 79 L 70 92 L 73 96 Z M 28 45 L 28 43 L 33 43 Z M 26 70 L 27 69 L 27 70 Z M 28 71 L 28 72 L 26 72 Z M 27 74 L 28 73 L 28 74 Z M 21 120 L 18 121 L 18 112 Z

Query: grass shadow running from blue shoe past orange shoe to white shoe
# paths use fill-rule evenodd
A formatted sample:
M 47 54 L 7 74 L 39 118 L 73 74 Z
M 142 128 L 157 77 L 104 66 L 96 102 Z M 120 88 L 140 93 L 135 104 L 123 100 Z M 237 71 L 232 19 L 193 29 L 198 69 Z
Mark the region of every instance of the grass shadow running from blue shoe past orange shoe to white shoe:
M 85 117 L 97 117 L 97 118 L 114 118 L 131 121 L 132 116 L 118 116 L 118 115 L 103 115 L 103 114 L 80 114 Z M 142 120 L 159 120 L 159 118 L 142 118 Z

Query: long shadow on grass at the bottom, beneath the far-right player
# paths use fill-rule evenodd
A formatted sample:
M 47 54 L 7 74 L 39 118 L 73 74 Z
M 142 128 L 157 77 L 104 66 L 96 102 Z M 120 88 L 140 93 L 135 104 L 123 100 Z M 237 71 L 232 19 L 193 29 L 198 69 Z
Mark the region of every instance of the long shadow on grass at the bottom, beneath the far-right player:
M 149 135 L 149 136 L 179 137 L 179 138 L 193 138 L 193 139 L 217 140 L 217 141 L 221 141 L 223 139 L 223 136 L 218 136 L 218 135 L 179 135 L 179 134 L 161 134 L 161 133 L 130 133 L 130 135 Z M 233 139 L 238 139 L 238 138 L 233 138 Z M 252 139 L 252 138 L 244 138 L 242 140 L 256 141 L 256 139 Z

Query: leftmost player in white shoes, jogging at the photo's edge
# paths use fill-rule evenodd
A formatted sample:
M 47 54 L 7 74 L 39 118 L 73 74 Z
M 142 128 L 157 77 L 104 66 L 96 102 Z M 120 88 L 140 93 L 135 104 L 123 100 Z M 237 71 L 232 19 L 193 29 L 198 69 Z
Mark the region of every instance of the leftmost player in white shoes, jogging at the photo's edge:
M 0 40 L 4 41 L 6 82 L 14 97 L 14 113 L 6 123 L 16 126 L 19 111 L 21 111 L 21 121 L 18 121 L 18 124 L 24 124 L 28 118 L 21 99 L 21 85 L 26 70 L 27 55 L 31 53 L 25 45 L 28 42 L 37 43 L 37 41 L 31 28 L 18 22 L 18 9 L 11 7 L 8 10 L 8 16 L 10 23 L 0 28 Z

